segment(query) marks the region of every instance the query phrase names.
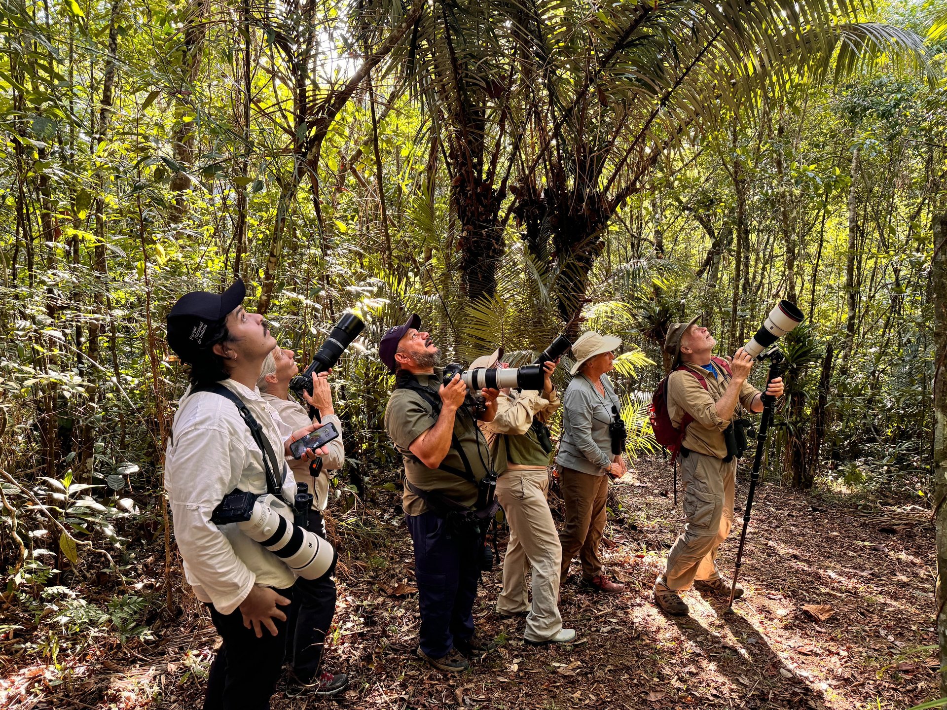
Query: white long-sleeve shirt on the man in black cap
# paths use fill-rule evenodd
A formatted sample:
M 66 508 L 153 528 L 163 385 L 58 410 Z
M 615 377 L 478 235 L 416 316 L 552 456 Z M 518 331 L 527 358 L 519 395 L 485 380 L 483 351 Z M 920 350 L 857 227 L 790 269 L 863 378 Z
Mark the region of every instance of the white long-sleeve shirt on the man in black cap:
M 293 429 L 260 397 L 256 388 L 221 382 L 243 400 L 263 428 L 282 463 L 283 442 Z M 213 392 L 185 394 L 171 426 L 165 457 L 165 488 L 171 507 L 174 538 L 188 584 L 198 599 L 221 613 L 233 612 L 253 585 L 287 589 L 295 575 L 237 524 L 210 522 L 214 508 L 234 488 L 265 493 L 263 455 L 237 406 Z M 292 505 L 293 471 L 286 468 L 283 498 Z M 280 471 L 274 471 L 279 477 Z

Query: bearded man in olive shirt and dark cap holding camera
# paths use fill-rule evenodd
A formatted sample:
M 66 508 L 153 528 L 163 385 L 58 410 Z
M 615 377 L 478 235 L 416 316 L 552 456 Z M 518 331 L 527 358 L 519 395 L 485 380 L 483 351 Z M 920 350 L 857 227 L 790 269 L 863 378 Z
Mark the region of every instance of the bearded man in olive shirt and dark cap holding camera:
M 459 673 L 470 666 L 466 656 L 487 649 L 474 640 L 473 615 L 483 543 L 448 518 L 476 506 L 490 453 L 464 405 L 467 386 L 458 376 L 441 382 L 438 348 L 419 328 L 415 313 L 390 328 L 379 346 L 379 357 L 397 377 L 384 428 L 404 457 L 402 507 L 414 544 L 420 608 L 417 654 L 439 670 Z M 491 421 L 499 393 L 482 394 L 487 405 L 481 419 Z

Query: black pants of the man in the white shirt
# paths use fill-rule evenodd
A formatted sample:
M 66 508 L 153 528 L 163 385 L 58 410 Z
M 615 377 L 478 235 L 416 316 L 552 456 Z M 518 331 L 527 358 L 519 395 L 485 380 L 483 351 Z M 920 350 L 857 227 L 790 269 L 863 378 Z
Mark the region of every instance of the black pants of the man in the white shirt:
M 292 589 L 276 592 L 293 598 Z M 253 629 L 243 626 L 239 609 L 223 614 L 213 604 L 207 607 L 223 645 L 207 676 L 204 710 L 268 710 L 286 653 L 286 622 L 274 619 L 277 635 L 264 627 L 262 638 L 257 638 Z M 282 609 L 288 611 L 287 607 Z

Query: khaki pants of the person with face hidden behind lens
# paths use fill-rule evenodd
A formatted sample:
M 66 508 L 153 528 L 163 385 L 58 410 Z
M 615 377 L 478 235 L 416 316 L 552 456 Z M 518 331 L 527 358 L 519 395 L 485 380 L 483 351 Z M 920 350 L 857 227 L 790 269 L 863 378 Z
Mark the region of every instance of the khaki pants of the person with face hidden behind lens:
M 563 549 L 546 502 L 548 488 L 545 469 L 508 470 L 496 482 L 496 498 L 509 521 L 503 593 L 496 600 L 496 610 L 513 614 L 528 609 L 527 641 L 545 641 L 563 628 L 556 604 Z M 532 605 L 526 586 L 530 565 Z

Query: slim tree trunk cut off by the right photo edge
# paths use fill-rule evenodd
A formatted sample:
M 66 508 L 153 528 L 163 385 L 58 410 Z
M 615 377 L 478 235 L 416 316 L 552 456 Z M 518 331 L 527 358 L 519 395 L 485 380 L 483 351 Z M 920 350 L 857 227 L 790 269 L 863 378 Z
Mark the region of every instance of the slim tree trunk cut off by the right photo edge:
M 934 296 L 934 502 L 938 547 L 938 643 L 940 695 L 947 697 L 947 211 L 933 219 L 934 258 L 931 284 Z

